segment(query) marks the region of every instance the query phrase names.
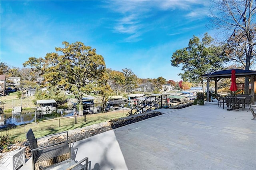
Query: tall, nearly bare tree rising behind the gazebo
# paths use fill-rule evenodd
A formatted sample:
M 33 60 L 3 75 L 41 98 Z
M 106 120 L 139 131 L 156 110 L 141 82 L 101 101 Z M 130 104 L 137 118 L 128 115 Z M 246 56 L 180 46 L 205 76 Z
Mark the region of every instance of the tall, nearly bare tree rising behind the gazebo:
M 212 28 L 224 33 L 224 51 L 234 62 L 249 70 L 255 60 L 256 3 L 253 0 L 212 1 Z M 245 78 L 244 93 L 249 93 L 249 79 Z

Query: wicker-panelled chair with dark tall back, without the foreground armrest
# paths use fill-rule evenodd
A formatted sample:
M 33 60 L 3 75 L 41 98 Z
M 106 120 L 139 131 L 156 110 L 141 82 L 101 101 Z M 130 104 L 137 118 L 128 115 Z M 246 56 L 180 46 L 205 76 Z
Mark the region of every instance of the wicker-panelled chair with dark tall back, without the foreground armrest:
M 29 146 L 31 148 L 33 170 L 38 170 L 40 165 L 47 167 L 70 158 L 71 152 L 68 144 L 68 132 L 60 132 L 57 134 L 62 133 L 66 133 L 67 139 L 65 141 L 38 147 L 37 140 L 39 138 L 35 138 L 31 128 L 28 130 L 26 139 L 28 140 Z M 57 134 L 51 134 L 48 136 Z

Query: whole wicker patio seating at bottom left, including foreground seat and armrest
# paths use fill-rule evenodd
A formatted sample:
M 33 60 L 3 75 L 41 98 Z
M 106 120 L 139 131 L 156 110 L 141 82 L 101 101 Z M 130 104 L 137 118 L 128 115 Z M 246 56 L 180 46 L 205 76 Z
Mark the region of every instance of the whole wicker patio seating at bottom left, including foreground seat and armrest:
M 61 142 L 55 141 L 52 144 L 39 147 L 38 139 L 50 136 L 66 136 Z M 68 132 L 50 134 L 41 138 L 35 138 L 32 129 L 28 130 L 26 139 L 31 148 L 33 170 L 88 170 L 88 157 L 75 161 L 71 159 L 71 148 L 68 143 Z M 48 143 L 48 142 L 47 142 Z M 86 162 L 82 165 L 82 162 Z

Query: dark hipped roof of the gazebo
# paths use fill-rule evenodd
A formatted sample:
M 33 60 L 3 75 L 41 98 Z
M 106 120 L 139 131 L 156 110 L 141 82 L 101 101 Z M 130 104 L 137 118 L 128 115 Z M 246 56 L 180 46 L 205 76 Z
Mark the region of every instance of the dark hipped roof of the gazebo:
M 246 77 L 249 75 L 250 76 L 256 75 L 256 71 L 252 71 L 252 70 L 242 70 L 242 69 L 234 69 L 234 70 L 236 71 L 236 77 Z M 204 74 L 202 75 L 202 77 L 229 78 L 231 77 L 231 71 L 232 69 L 217 71 L 214 73 Z

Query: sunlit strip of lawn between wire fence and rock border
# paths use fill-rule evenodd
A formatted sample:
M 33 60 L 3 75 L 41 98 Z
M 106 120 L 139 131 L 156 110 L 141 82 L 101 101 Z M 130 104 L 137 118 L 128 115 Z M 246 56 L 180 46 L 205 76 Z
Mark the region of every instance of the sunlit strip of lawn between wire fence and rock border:
M 75 124 L 75 117 L 64 117 L 64 118 L 52 118 L 36 123 L 28 123 L 25 125 L 18 125 L 14 127 L 8 127 L 1 129 L 0 135 L 8 133 L 10 139 L 16 139 L 25 141 L 26 132 L 32 128 L 36 138 L 46 136 L 48 134 L 54 134 L 63 132 L 66 130 L 73 130 L 75 128 L 82 128 L 89 125 L 106 122 L 110 119 L 118 119 L 120 117 L 126 117 L 127 111 L 113 111 L 108 113 L 97 113 L 92 115 L 86 115 L 86 122 L 84 122 L 84 116 L 77 117 L 77 123 Z M 60 127 L 59 127 L 60 126 Z

